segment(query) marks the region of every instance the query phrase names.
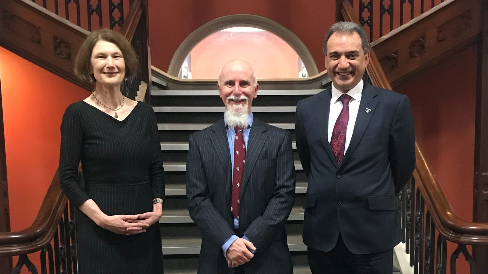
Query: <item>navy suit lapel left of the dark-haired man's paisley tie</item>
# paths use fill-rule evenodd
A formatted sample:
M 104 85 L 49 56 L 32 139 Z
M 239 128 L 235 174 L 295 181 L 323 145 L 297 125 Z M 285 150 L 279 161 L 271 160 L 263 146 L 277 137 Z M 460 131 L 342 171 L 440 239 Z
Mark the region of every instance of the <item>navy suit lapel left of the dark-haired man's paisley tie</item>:
M 320 139 L 324 144 L 325 153 L 330 158 L 330 161 L 337 167 L 337 160 L 332 152 L 330 143 L 328 140 L 328 130 L 329 130 L 329 113 L 330 113 L 330 98 L 332 96 L 332 90 L 330 88 L 319 94 L 319 101 L 316 105 L 317 117 L 323 119 L 323 123 L 319 123 L 319 133 Z

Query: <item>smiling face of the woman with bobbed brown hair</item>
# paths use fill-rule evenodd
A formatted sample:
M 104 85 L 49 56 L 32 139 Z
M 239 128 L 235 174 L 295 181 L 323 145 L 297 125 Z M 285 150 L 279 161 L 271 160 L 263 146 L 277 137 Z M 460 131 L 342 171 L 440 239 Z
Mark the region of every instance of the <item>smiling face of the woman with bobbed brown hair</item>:
M 93 47 L 91 68 L 97 84 L 117 86 L 125 76 L 125 61 L 119 47 L 100 40 Z

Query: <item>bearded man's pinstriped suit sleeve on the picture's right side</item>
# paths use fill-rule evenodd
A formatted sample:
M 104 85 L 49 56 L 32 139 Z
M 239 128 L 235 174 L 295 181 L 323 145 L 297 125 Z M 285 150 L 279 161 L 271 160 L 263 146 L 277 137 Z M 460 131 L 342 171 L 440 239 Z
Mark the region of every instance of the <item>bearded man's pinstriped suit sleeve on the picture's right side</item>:
M 244 232 L 256 247 L 256 252 L 273 242 L 295 202 L 295 166 L 289 133 L 286 133 L 278 151 L 275 178 L 273 194 L 263 215 L 257 217 Z

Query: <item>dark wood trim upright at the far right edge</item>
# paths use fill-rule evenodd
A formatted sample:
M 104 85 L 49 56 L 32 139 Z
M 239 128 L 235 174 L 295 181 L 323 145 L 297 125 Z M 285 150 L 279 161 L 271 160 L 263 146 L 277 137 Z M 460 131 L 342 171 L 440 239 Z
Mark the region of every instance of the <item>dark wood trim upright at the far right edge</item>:
M 476 124 L 474 136 L 473 221 L 488 222 L 488 3 L 481 2 L 481 41 L 478 43 Z M 473 247 L 478 274 L 488 273 L 488 247 Z

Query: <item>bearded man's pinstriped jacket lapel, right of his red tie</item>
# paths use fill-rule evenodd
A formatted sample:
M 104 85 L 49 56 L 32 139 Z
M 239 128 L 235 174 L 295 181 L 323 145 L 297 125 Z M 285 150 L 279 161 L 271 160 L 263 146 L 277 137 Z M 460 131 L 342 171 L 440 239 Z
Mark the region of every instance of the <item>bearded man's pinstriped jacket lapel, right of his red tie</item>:
M 241 197 L 244 194 L 245 187 L 251 176 L 251 171 L 254 168 L 254 164 L 258 159 L 261 150 L 263 149 L 264 142 L 268 137 L 264 132 L 266 131 L 264 123 L 254 118 L 252 122 L 251 131 L 249 132 L 249 139 L 247 140 L 247 150 L 245 154 L 244 174 L 242 179 Z

